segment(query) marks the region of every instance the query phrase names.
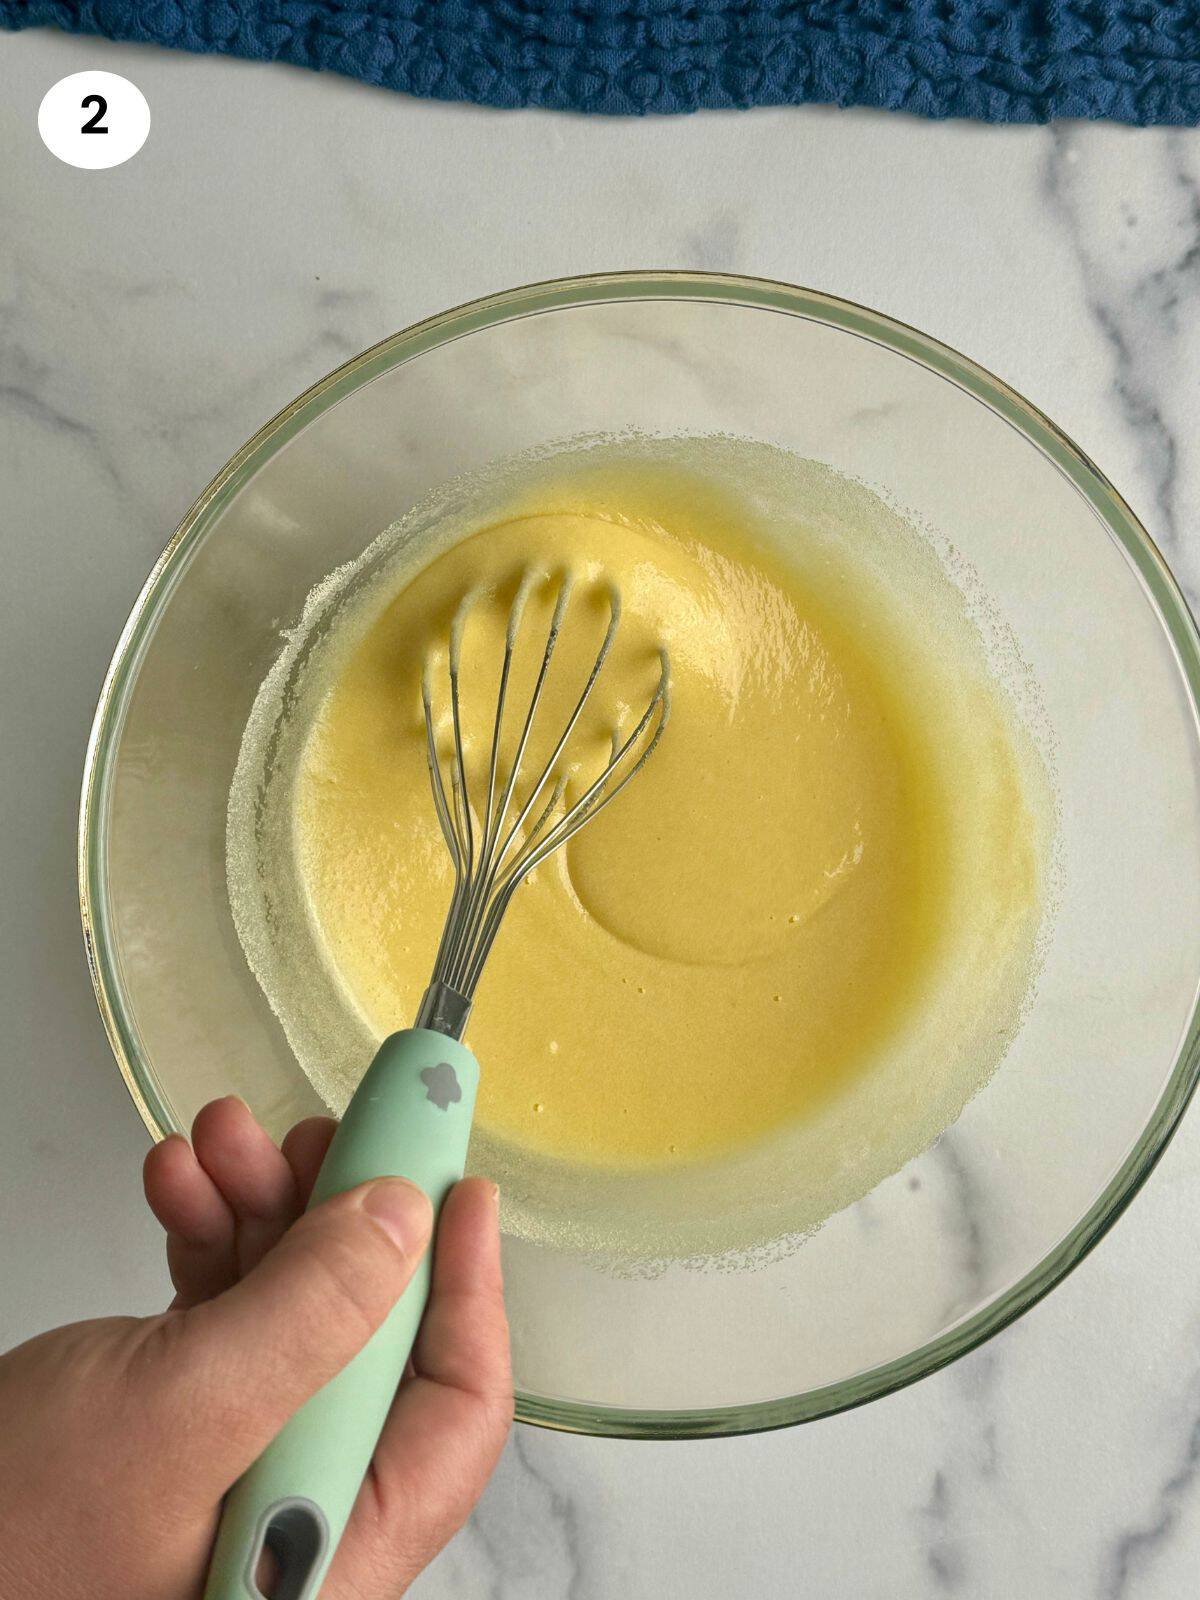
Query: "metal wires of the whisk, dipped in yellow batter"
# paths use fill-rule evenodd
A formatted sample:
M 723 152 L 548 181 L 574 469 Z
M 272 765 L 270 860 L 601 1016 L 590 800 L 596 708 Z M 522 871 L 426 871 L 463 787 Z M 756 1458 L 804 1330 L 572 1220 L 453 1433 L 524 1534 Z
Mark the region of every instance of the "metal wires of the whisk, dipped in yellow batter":
M 507 774 L 501 778 L 499 747 L 504 730 L 504 710 L 509 694 L 512 661 L 517 651 L 517 637 L 522 618 L 533 590 L 544 582 L 544 574 L 526 571 L 517 586 L 504 635 L 504 659 L 501 662 L 499 688 L 496 693 L 496 715 L 491 731 L 491 752 L 488 757 L 486 803 L 482 813 L 482 824 L 477 830 L 472 814 L 470 792 L 467 784 L 466 741 L 462 736 L 462 712 L 459 696 L 459 672 L 462 664 L 462 635 L 467 616 L 480 598 L 480 590 L 472 590 L 459 603 L 450 629 L 450 709 L 453 725 L 453 760 L 450 762 L 450 784 L 443 774 L 443 758 L 437 747 L 435 714 L 434 714 L 434 672 L 432 662 L 426 659 L 421 677 L 421 701 L 426 717 L 426 746 L 429 757 L 429 778 L 434 790 L 434 806 L 446 840 L 450 859 L 454 867 L 454 888 L 450 899 L 450 910 L 442 930 L 442 939 L 434 960 L 434 974 L 421 1002 L 418 1027 L 437 1027 L 451 1037 L 461 1038 L 466 1029 L 467 1014 L 475 994 L 475 986 L 483 971 L 483 963 L 496 939 L 496 933 L 509 909 L 512 896 L 522 880 L 541 866 L 547 856 L 560 850 L 579 829 L 597 816 L 606 805 L 621 794 L 626 784 L 642 771 L 653 755 L 662 730 L 670 715 L 670 662 L 666 650 L 659 651 L 659 678 L 646 709 L 638 717 L 634 730 L 622 736 L 619 728 L 613 731 L 611 755 L 600 774 L 586 790 L 557 816 L 566 792 L 566 778 L 555 776 L 555 768 L 574 733 L 579 718 L 592 696 L 592 690 L 613 648 L 618 627 L 621 624 L 621 595 L 610 586 L 608 589 L 608 624 L 605 627 L 600 648 L 597 650 L 592 669 L 579 691 L 571 715 L 563 726 L 550 755 L 542 763 L 538 779 L 530 787 L 520 805 L 517 816 L 507 822 L 520 766 L 530 744 L 530 734 L 538 715 L 546 678 L 550 669 L 558 635 L 571 600 L 573 579 L 565 574 L 558 582 L 550 627 L 542 650 L 541 664 L 534 678 L 530 706 L 517 738 L 517 747 Z M 651 730 L 651 723 L 654 725 Z M 541 795 L 550 786 L 550 797 L 530 824 Z M 552 821 L 554 819 L 554 821 Z M 506 827 L 507 822 L 507 827 Z M 528 824 L 528 826 L 526 826 Z

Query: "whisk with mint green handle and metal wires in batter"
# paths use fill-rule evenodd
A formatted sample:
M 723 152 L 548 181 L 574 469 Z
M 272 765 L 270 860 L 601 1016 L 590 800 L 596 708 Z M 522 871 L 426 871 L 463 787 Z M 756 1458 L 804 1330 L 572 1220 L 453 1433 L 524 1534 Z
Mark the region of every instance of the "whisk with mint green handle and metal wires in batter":
M 440 1208 L 462 1176 L 478 1086 L 478 1062 L 462 1045 L 475 987 L 520 883 L 621 794 L 653 755 L 670 714 L 669 659 L 659 651 L 658 683 L 642 715 L 616 728 L 600 773 L 568 802 L 563 771 L 571 736 L 592 698 L 621 624 L 621 595 L 606 594 L 608 621 L 587 678 L 538 774 L 520 782 L 550 662 L 568 616 L 570 574 L 557 581 L 546 646 L 510 760 L 509 688 L 530 597 L 546 574 L 522 574 L 509 610 L 504 658 L 486 760 L 472 784 L 462 726 L 462 640 L 486 590 L 459 603 L 446 677 L 450 749 L 438 744 L 435 664 L 426 659 L 421 699 L 434 808 L 454 869 L 454 888 L 429 987 L 416 1024 L 379 1046 L 333 1138 L 312 1205 L 371 1178 L 403 1176 Z M 226 1499 L 205 1600 L 261 1600 L 256 1573 L 264 1550 L 275 1578 L 270 1600 L 312 1600 L 341 1539 L 384 1419 L 408 1363 L 429 1296 L 429 1258 L 366 1347 L 291 1418 Z

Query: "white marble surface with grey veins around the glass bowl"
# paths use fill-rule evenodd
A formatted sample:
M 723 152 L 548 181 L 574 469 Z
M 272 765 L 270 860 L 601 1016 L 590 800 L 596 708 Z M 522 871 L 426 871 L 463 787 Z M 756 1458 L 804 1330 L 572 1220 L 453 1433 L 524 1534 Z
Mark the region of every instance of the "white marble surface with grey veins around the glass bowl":
M 130 165 L 37 106 L 134 78 Z M 283 402 L 530 278 L 717 267 L 968 350 L 1107 469 L 1200 598 L 1200 134 L 760 112 L 584 123 L 0 35 L 0 1342 L 150 1309 L 141 1125 L 83 966 L 74 822 L 150 562 Z M 1013 1330 L 862 1411 L 714 1443 L 520 1429 L 419 1600 L 1182 1600 L 1200 1582 L 1200 1117 Z

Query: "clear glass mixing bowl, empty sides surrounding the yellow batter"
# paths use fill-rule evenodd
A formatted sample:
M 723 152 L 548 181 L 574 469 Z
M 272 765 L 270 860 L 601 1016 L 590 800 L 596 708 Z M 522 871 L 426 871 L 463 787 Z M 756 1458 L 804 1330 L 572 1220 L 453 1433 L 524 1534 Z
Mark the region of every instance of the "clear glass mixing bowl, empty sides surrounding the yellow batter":
M 229 784 L 280 629 L 453 475 L 626 429 L 781 445 L 949 539 L 1040 685 L 1062 802 L 1035 1003 L 933 1149 L 757 1270 L 622 1278 L 506 1243 L 522 1419 L 736 1434 L 875 1398 L 1003 1328 L 1110 1227 L 1195 1086 L 1195 626 L 1128 506 L 1011 389 L 877 312 L 699 274 L 520 288 L 347 362 L 205 490 L 130 616 L 88 749 L 83 928 L 155 1136 L 226 1093 L 275 1136 L 318 1110 L 226 890 Z

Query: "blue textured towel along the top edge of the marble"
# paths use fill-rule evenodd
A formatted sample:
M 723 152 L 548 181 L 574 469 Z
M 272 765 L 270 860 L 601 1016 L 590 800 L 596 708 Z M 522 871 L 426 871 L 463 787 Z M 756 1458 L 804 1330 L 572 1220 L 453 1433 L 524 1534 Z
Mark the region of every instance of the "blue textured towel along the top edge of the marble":
M 802 101 L 1200 122 L 1200 0 L 0 0 L 53 26 L 485 106 Z

